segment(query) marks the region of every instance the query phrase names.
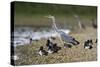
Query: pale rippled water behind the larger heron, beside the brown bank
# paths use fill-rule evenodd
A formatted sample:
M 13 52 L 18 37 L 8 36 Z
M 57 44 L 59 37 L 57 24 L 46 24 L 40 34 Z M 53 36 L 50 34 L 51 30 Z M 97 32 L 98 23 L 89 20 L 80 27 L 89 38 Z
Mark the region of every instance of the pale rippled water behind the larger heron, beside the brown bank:
M 66 34 L 70 32 L 67 29 L 60 29 Z M 16 27 L 14 30 L 14 46 L 30 44 L 30 39 L 32 41 L 37 41 L 41 39 L 48 39 L 49 37 L 57 37 L 58 34 L 52 29 L 42 29 L 35 30 L 32 27 Z

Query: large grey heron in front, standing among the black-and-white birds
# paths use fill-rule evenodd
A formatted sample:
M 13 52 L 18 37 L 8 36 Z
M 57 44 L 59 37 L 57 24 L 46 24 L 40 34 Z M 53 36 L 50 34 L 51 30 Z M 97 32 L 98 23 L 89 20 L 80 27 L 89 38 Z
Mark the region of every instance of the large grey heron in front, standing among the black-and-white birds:
M 66 34 L 64 31 L 59 30 L 57 28 L 54 16 L 49 15 L 49 16 L 46 16 L 46 17 L 50 18 L 52 20 L 53 29 L 55 30 L 55 32 L 57 32 L 60 35 L 60 39 L 62 40 L 63 43 L 72 43 L 74 45 L 79 44 L 79 42 L 77 40 L 75 40 L 75 38 L 73 38 L 72 36 Z

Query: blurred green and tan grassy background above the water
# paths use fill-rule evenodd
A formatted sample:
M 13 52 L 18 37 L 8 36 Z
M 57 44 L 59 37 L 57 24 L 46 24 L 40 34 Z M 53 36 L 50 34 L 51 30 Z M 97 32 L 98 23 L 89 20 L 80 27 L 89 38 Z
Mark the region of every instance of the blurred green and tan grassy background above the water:
M 74 15 L 78 15 L 81 21 L 90 26 L 91 19 L 97 17 L 96 6 L 79 6 L 66 4 L 48 4 L 32 2 L 14 2 L 14 22 L 15 25 L 28 26 L 51 26 L 51 21 L 44 17 L 54 15 L 56 23 L 59 25 L 76 26 L 77 20 Z

